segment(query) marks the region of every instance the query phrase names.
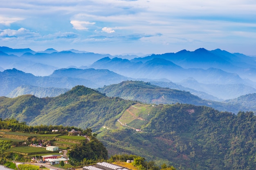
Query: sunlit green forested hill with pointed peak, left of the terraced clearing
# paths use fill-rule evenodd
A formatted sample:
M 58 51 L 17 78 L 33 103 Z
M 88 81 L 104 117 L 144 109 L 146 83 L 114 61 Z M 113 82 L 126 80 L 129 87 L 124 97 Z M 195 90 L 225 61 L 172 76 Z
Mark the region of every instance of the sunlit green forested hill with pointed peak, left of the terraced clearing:
M 118 97 L 106 97 L 91 88 L 76 86 L 58 97 L 0 97 L 0 115 L 2 119 L 14 117 L 29 125 L 62 124 L 96 128 L 115 121 L 115 116 L 133 103 Z

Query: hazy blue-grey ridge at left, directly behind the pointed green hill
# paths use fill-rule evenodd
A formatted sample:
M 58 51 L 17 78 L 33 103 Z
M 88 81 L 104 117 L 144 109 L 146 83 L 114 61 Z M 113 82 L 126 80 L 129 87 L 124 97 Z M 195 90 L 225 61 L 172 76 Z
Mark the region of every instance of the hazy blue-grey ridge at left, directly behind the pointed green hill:
M 108 70 L 65 68 L 54 71 L 50 76 L 34 76 L 17 69 L 0 72 L 0 96 L 6 96 L 19 86 L 69 88 L 80 84 L 90 88 L 99 88 L 112 83 L 128 80 Z M 99 84 L 98 84 L 99 83 Z M 40 92 L 38 92 L 40 93 Z

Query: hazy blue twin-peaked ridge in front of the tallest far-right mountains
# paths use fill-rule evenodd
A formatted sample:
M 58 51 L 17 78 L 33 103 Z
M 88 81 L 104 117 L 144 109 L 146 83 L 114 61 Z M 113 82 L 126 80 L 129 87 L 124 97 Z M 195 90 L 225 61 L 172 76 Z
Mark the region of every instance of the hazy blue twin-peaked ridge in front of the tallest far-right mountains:
M 193 77 L 201 83 L 209 84 L 248 84 L 246 80 L 239 77 L 236 73 L 228 73 L 218 68 L 189 68 L 184 69 L 171 61 L 162 58 L 153 58 L 145 63 L 131 62 L 126 59 L 105 57 L 94 62 L 90 67 L 95 69 L 108 69 L 115 73 L 133 77 L 161 79 L 166 78 L 172 82 L 180 82 L 189 77 Z M 252 83 L 253 84 L 253 83 Z

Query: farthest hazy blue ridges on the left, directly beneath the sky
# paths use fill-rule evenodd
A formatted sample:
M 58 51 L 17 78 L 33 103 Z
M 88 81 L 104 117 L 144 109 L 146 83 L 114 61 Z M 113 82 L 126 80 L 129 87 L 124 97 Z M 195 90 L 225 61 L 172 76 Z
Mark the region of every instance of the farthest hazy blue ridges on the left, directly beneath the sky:
M 113 57 L 110 54 L 96 54 L 87 51 L 65 50 L 56 51 L 46 49 L 45 51 L 32 51 L 31 49 L 11 49 L 0 47 L 0 66 L 4 69 L 17 68 L 34 75 L 50 75 L 59 68 L 84 68 L 103 57 Z M 134 58 L 137 55 L 118 55 L 119 57 Z

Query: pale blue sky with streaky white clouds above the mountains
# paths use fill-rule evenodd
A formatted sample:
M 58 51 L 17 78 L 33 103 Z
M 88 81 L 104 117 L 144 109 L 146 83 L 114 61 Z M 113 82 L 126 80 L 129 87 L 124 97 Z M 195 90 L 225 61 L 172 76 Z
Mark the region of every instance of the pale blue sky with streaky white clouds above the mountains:
M 256 55 L 255 0 L 1 0 L 0 46 Z

